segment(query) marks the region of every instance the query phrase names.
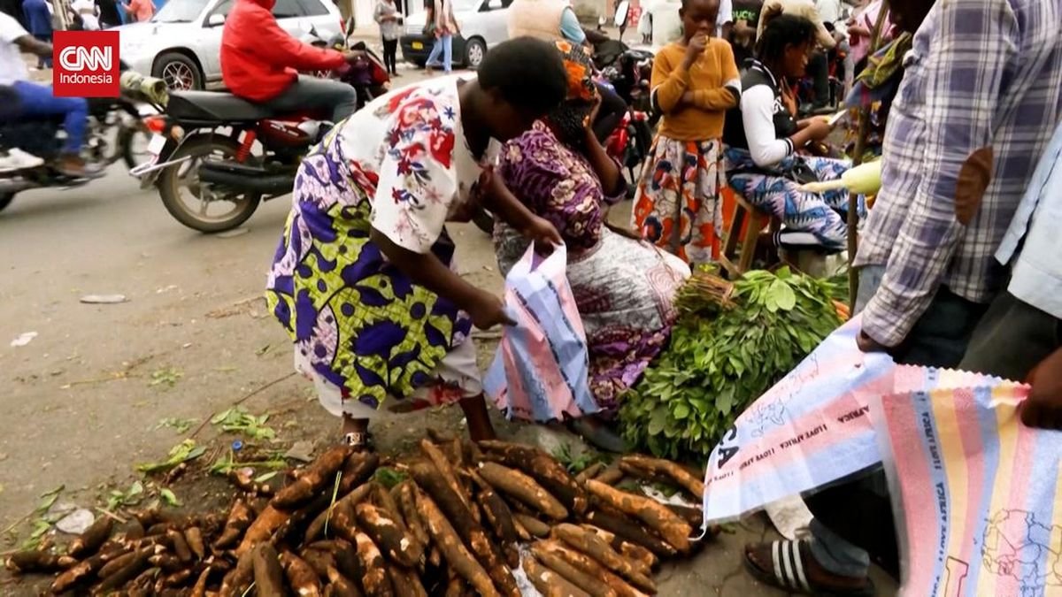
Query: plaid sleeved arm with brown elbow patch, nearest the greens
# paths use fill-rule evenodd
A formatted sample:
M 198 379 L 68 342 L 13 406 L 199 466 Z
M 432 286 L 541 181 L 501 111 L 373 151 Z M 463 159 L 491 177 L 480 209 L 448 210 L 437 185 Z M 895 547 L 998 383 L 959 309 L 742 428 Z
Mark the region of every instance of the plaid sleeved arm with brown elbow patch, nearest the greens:
M 881 286 L 863 312 L 863 334 L 885 346 L 900 344 L 925 312 L 980 206 L 1000 82 L 1017 48 L 1007 0 L 948 0 L 935 10 L 940 29 L 922 57 L 923 175 Z

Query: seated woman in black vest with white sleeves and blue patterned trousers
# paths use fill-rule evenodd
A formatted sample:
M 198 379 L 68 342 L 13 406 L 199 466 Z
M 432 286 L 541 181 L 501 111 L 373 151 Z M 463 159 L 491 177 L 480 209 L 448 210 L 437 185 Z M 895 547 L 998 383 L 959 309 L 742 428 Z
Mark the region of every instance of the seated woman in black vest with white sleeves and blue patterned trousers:
M 825 139 L 832 127 L 823 117 L 794 120 L 796 104 L 786 83 L 804 75 L 816 25 L 776 12 L 765 19 L 756 58 L 741 78 L 741 101 L 726 115 L 726 176 L 735 191 L 780 218 L 787 229 L 810 233 L 822 245 L 840 249 L 846 229 L 835 209 L 847 207 L 847 192 L 818 194 L 800 186 L 839 178 L 849 163 L 799 153 L 809 142 Z

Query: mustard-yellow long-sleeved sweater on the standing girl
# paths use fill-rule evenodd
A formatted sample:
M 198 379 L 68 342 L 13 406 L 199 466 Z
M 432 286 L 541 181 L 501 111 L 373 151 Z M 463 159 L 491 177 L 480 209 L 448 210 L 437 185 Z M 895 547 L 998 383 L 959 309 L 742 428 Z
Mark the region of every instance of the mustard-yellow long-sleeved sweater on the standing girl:
M 653 61 L 650 84 L 655 104 L 664 114 L 660 134 L 680 141 L 705 141 L 723 134 L 726 110 L 736 106 L 741 79 L 730 44 L 713 37 L 704 53 L 686 70 L 686 45 L 675 41 Z M 686 91 L 689 101 L 683 100 Z

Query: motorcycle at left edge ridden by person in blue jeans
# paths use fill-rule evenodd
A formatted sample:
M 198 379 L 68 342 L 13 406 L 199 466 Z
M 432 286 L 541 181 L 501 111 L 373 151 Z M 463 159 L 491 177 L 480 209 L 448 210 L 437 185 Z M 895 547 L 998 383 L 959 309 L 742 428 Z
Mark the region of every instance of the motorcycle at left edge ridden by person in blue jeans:
M 124 92 L 124 90 L 123 90 Z M 88 98 L 88 122 L 82 156 L 89 168 L 103 169 L 119 160 L 129 168 L 138 163 L 137 141 L 147 140 L 142 125 L 148 106 L 131 97 Z M 0 172 L 0 210 L 21 191 L 49 187 L 78 187 L 91 178 L 64 174 L 53 166 L 63 149 L 63 116 L 0 124 L 0 149 L 19 149 L 40 157 L 40 166 Z

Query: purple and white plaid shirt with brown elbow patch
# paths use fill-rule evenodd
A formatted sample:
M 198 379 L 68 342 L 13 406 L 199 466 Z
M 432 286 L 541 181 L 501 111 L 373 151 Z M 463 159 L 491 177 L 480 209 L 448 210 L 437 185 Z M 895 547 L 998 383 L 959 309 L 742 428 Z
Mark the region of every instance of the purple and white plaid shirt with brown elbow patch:
M 902 342 L 942 284 L 977 303 L 999 289 L 993 253 L 1062 118 L 1060 22 L 1062 0 L 941 0 L 914 35 L 855 259 L 886 266 L 862 315 L 881 344 Z M 986 147 L 992 177 L 964 226 L 959 170 Z

